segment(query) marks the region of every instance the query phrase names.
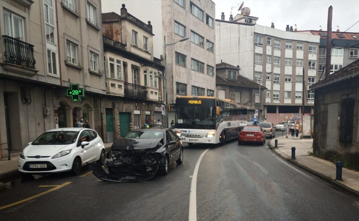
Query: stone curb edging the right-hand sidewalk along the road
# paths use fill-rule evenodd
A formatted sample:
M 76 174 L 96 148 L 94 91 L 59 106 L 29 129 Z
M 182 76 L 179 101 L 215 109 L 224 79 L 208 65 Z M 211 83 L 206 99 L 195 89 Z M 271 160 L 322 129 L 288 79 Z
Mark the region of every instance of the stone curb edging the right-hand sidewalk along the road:
M 277 154 L 279 157 L 283 158 L 284 160 L 286 160 L 286 161 L 288 161 L 288 162 L 290 162 L 290 163 L 292 163 L 294 165 L 297 165 L 298 167 L 306 170 L 307 172 L 313 174 L 314 176 L 316 176 L 316 177 L 322 179 L 323 181 L 331 184 L 332 186 L 335 186 L 337 189 L 341 190 L 342 192 L 348 193 L 351 196 L 359 198 L 359 191 L 356 191 L 355 189 L 352 189 L 352 188 L 350 188 L 350 187 L 348 187 L 348 186 L 346 186 L 346 185 L 344 185 L 344 184 L 342 184 L 342 183 L 340 183 L 340 182 L 338 182 L 338 181 L 336 181 L 336 180 L 334 180 L 334 179 L 332 179 L 330 177 L 327 177 L 327 176 L 325 176 L 325 175 L 323 175 L 323 174 L 321 174 L 321 173 L 319 173 L 319 172 L 317 172 L 317 171 L 315 171 L 315 170 L 313 170 L 313 169 L 311 169 L 309 167 L 306 167 L 303 164 L 300 164 L 295 160 L 287 159 L 287 158 L 283 157 L 282 155 L 280 155 L 279 153 L 277 153 L 275 151 L 275 148 L 273 148 L 273 146 L 271 145 L 271 142 L 269 142 L 268 145 L 269 145 L 269 148 L 275 154 Z

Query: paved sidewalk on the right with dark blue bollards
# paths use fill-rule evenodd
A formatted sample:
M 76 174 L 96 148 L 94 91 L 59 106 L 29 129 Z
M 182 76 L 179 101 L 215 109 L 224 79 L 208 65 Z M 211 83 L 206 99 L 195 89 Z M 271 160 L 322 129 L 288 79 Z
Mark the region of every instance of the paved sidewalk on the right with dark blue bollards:
M 275 140 L 278 140 L 278 148 L 274 148 Z M 314 156 L 308 156 L 313 152 L 313 139 L 292 139 L 291 137 L 276 137 L 269 142 L 270 148 L 280 157 L 307 170 L 328 183 L 340 188 L 342 191 L 359 197 L 359 172 L 343 168 L 342 181 L 337 181 L 335 164 Z M 295 158 L 292 160 L 292 146 L 295 147 Z

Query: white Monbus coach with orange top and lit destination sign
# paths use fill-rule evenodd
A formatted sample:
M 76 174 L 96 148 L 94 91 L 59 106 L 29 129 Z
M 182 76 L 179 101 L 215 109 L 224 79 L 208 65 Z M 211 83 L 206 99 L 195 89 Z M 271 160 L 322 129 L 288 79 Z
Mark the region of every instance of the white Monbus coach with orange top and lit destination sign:
M 176 103 L 168 106 L 176 112 L 175 132 L 183 143 L 192 145 L 222 145 L 230 139 L 238 139 L 247 119 L 246 107 L 229 99 L 205 96 L 178 96 Z

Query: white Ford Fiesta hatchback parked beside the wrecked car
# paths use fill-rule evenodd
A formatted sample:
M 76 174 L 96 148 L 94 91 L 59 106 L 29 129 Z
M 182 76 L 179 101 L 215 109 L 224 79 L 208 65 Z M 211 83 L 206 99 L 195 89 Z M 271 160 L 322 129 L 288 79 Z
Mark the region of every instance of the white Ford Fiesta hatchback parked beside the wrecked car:
M 21 173 L 71 171 L 78 175 L 87 162 L 104 162 L 105 148 L 97 132 L 87 128 L 48 130 L 28 143 L 19 156 Z

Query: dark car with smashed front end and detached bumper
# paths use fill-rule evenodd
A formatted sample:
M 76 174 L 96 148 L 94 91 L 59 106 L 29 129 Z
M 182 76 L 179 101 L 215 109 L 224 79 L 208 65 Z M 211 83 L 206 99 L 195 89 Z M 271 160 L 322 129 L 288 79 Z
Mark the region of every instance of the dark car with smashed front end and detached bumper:
M 89 166 L 98 179 L 135 182 L 151 179 L 157 173 L 167 175 L 174 162 L 182 164 L 183 145 L 172 130 L 136 129 L 113 142 L 104 168 L 100 163 Z

